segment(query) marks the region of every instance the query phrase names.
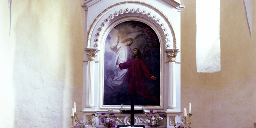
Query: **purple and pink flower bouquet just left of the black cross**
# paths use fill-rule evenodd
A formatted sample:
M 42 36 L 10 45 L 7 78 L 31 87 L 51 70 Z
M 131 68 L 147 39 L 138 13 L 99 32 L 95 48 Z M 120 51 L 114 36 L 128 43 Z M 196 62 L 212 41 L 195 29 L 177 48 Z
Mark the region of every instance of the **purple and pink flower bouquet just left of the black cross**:
M 108 127 L 108 128 L 113 128 L 115 127 L 116 123 L 117 123 L 117 120 L 120 120 L 119 117 L 120 117 L 120 113 L 123 113 L 122 110 L 124 109 L 124 104 L 121 104 L 121 108 L 119 109 L 119 112 L 118 112 L 118 115 L 114 115 L 114 113 L 112 113 L 113 110 L 111 109 L 108 109 L 108 113 L 109 115 L 106 116 L 106 113 L 101 113 L 100 116 L 96 116 L 95 114 L 92 114 L 93 116 L 96 116 L 100 119 L 100 122 L 102 124 L 104 124 L 105 127 Z M 125 110 L 125 109 L 124 109 Z

